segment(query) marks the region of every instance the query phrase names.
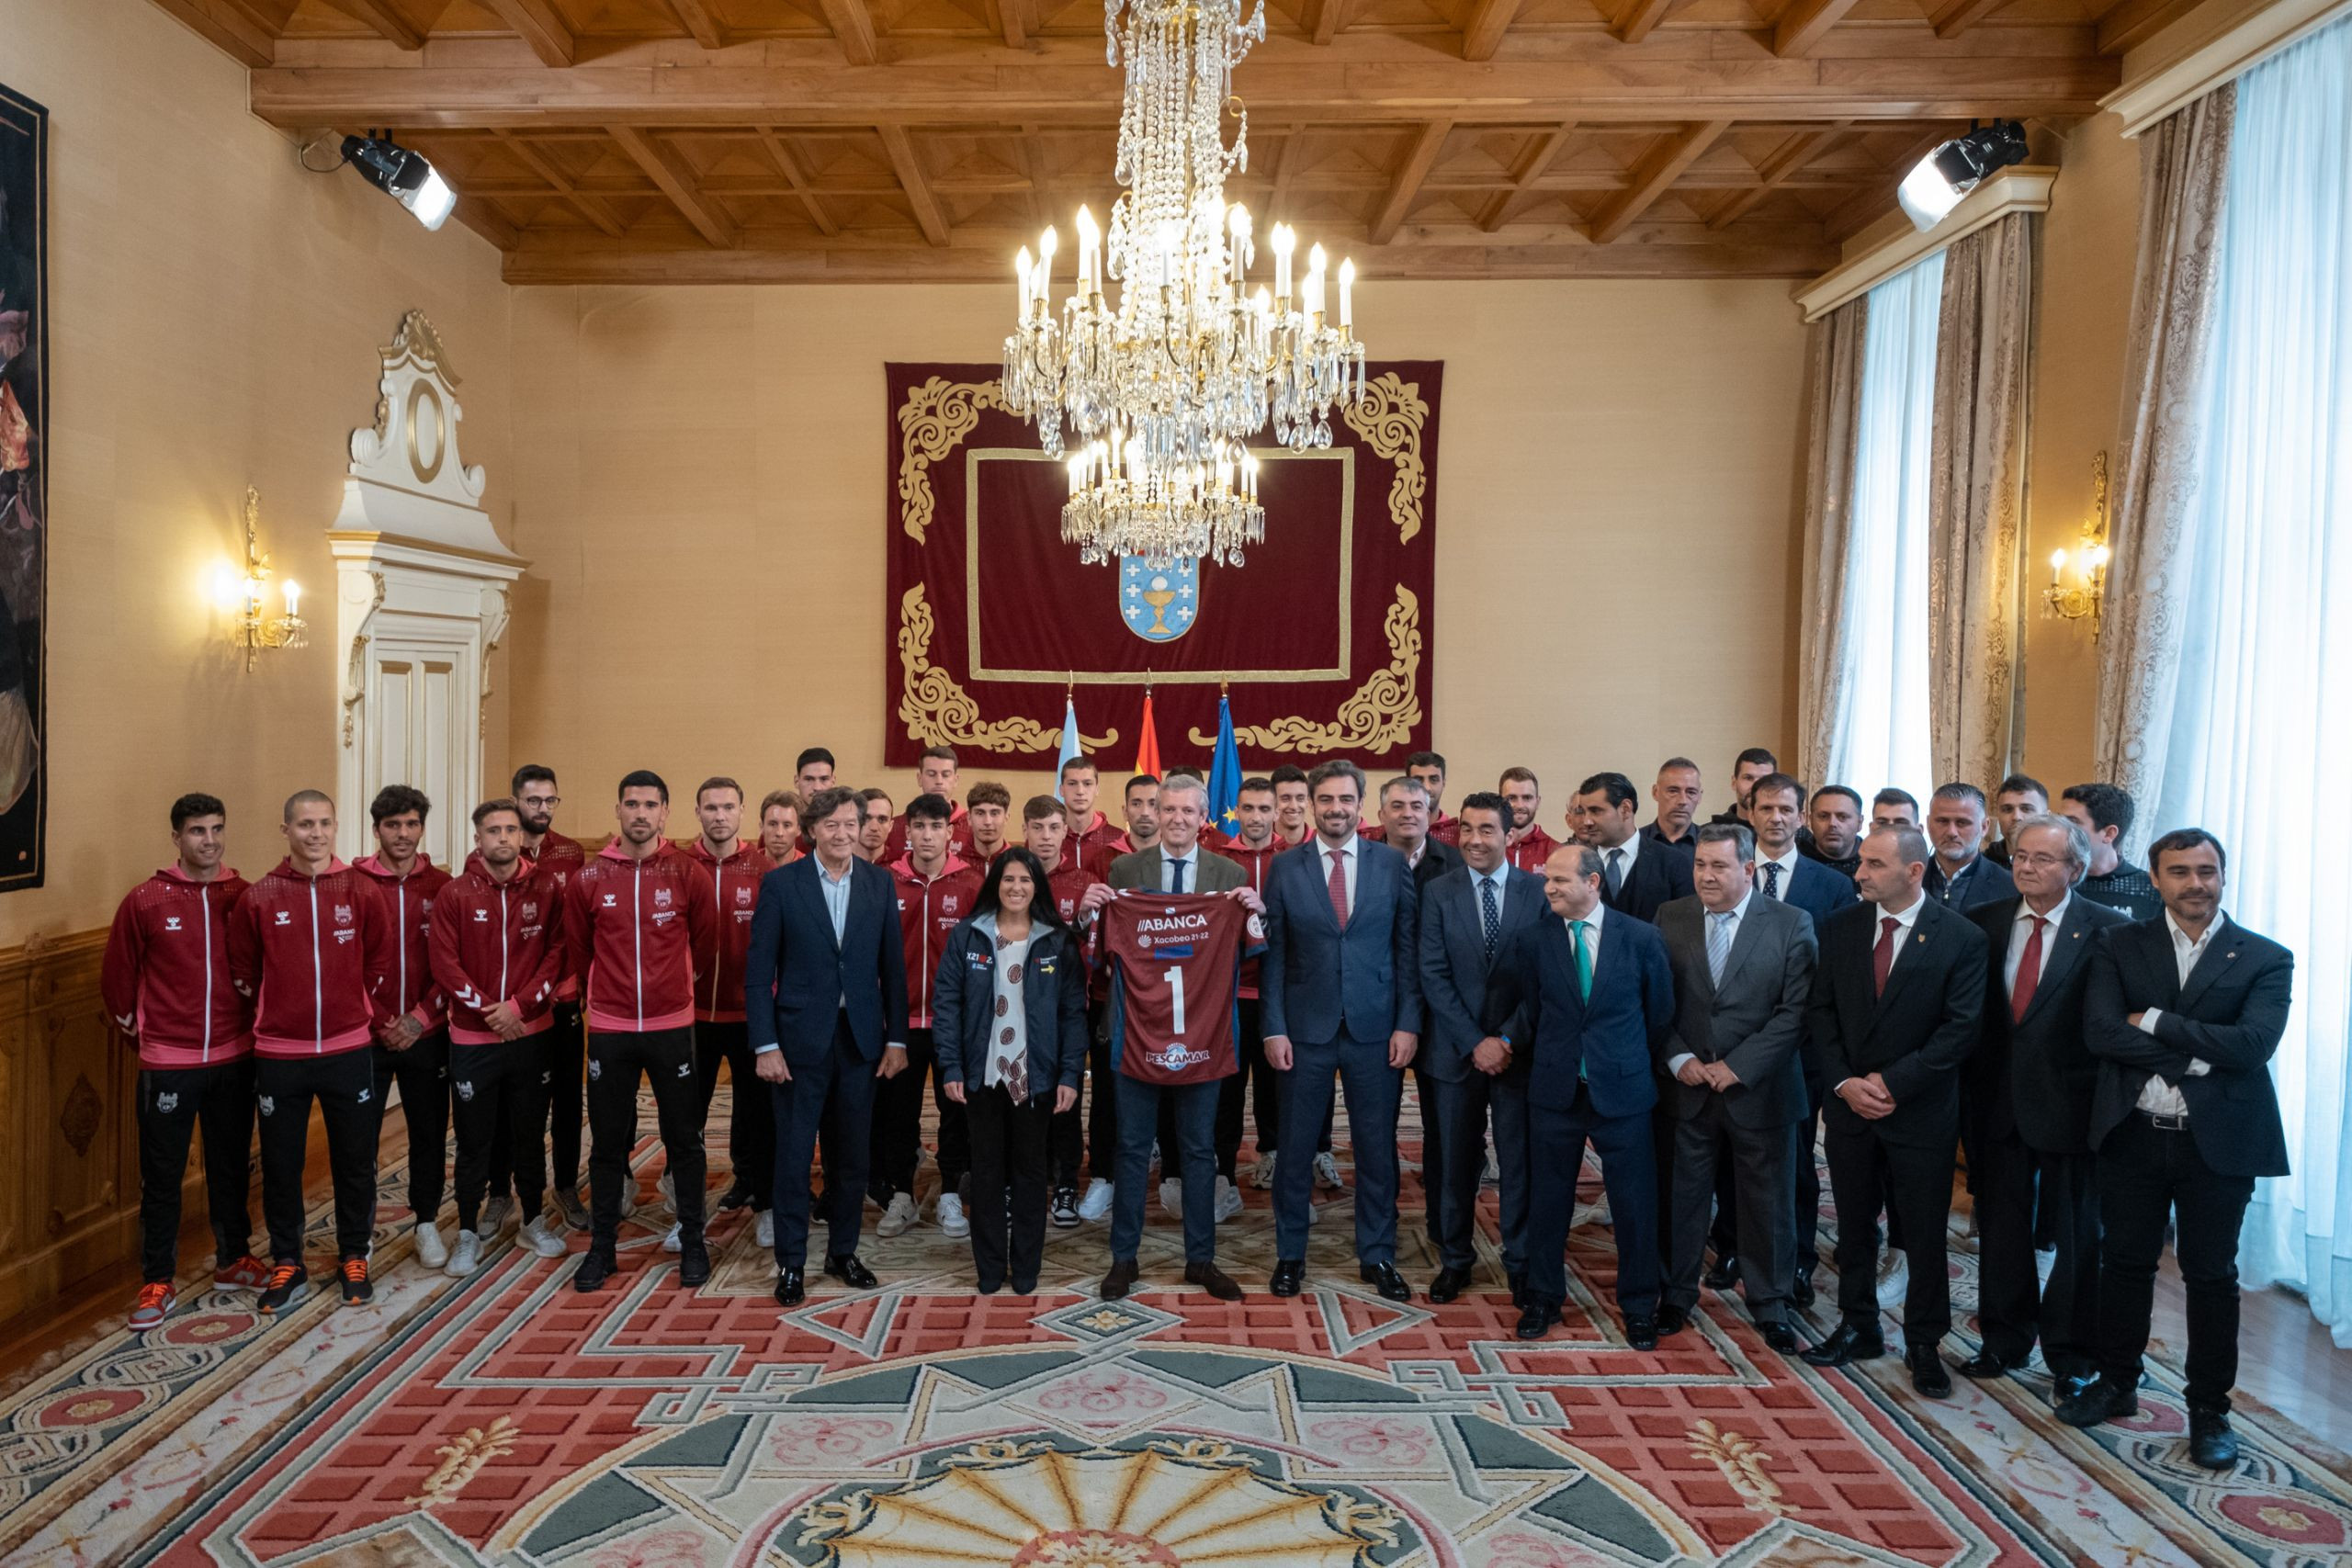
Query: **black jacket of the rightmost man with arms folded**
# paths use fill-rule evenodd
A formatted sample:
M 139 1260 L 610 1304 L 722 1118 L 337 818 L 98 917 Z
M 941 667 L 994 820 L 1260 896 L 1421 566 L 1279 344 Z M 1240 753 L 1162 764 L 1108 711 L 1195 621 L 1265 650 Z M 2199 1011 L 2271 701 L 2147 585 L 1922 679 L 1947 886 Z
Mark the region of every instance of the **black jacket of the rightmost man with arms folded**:
M 2197 1152 L 2223 1175 L 2286 1175 L 2286 1126 L 2270 1058 L 2286 1034 L 2296 954 L 2234 919 L 2213 931 L 2190 983 L 2180 983 L 2173 931 L 2159 914 L 2110 926 L 2091 950 L 2084 1037 L 2098 1065 L 2091 1147 L 2131 1114 L 2152 1074 L 2190 1107 Z M 2157 1032 L 2131 1025 L 2159 1009 Z M 2190 1077 L 2190 1060 L 2211 1067 Z

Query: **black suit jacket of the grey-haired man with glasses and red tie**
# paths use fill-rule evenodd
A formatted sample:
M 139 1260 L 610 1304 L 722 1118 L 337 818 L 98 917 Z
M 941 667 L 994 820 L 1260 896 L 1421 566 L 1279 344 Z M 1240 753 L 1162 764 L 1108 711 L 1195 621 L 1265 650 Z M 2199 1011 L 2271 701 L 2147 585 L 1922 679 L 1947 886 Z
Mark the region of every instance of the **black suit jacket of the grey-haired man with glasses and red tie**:
M 2042 978 L 2025 1018 L 2011 1023 L 2009 936 L 2023 903 L 2004 898 L 1969 912 L 1985 933 L 1985 1027 L 1962 1072 L 1962 1093 L 1973 1126 L 1990 1138 L 2016 1135 L 2044 1154 L 2089 1154 L 2098 1058 L 2082 1037 L 2082 999 L 2098 933 L 2126 922 L 2089 898 L 2067 898 L 2065 917 L 2042 933 Z

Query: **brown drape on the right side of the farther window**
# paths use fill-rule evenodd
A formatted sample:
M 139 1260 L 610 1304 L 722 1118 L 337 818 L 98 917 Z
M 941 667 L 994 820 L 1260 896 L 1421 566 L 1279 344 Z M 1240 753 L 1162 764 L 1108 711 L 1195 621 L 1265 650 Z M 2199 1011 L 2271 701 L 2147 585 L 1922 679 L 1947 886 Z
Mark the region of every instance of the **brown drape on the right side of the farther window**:
M 2032 216 L 1955 240 L 1936 322 L 1929 451 L 1929 743 L 1936 778 L 1990 790 L 2016 731 Z

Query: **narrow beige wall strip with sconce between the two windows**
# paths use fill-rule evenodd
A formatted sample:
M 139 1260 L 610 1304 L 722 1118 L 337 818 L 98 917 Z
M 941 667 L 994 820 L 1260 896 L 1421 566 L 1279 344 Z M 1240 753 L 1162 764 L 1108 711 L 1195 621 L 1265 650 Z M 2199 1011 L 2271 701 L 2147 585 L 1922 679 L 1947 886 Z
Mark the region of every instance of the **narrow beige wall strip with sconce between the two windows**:
M 2063 790 L 2093 776 L 2098 644 L 2089 621 L 2042 614 L 2051 550 L 2074 550 L 2091 456 L 2114 451 L 2140 216 L 2140 143 L 2114 115 L 2074 127 L 2042 221 L 2025 508 L 2025 771 Z M 1990 783 L 1990 780 L 1987 780 Z

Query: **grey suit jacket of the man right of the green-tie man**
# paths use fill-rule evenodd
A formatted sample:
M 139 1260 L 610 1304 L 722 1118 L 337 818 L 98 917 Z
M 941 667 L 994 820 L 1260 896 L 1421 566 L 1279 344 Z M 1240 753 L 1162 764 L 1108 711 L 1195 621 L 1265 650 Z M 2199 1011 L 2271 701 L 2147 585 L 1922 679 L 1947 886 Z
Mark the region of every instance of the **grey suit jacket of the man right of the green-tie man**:
M 1729 1063 L 1738 1086 L 1724 1110 L 1740 1126 L 1792 1126 L 1804 1117 L 1804 1006 L 1813 994 L 1813 917 L 1764 898 L 1748 900 L 1724 983 L 1708 969 L 1708 907 L 1677 898 L 1658 910 L 1658 936 L 1675 966 L 1675 1032 L 1658 1046 L 1658 1072 L 1689 1051 L 1703 1063 Z M 1668 1077 L 1668 1105 L 1689 1119 L 1705 1110 L 1705 1086 Z

